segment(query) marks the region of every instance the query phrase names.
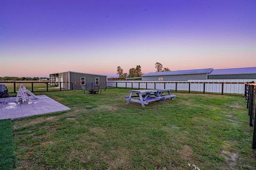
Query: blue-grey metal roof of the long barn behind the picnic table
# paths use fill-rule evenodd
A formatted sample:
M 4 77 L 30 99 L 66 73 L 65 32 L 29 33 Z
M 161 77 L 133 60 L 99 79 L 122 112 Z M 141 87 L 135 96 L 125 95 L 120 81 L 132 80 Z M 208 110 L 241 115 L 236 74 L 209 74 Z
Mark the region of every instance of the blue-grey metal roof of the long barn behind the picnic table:
M 162 75 L 188 75 L 188 74 L 209 74 L 213 69 L 195 69 L 195 70 L 179 70 L 166 72 L 151 72 L 143 74 L 142 77 L 162 76 Z

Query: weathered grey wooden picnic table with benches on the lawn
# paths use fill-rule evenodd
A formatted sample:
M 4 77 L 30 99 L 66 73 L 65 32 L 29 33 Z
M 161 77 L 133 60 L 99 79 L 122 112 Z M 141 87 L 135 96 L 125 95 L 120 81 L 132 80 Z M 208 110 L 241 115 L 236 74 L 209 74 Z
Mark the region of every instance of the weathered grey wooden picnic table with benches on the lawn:
M 167 95 L 163 95 L 167 92 Z M 130 101 L 140 103 L 142 107 L 149 104 L 151 101 L 159 101 L 163 103 L 166 99 L 174 99 L 176 95 L 171 94 L 171 90 L 159 89 L 159 90 L 130 90 L 130 95 L 125 96 L 126 104 Z

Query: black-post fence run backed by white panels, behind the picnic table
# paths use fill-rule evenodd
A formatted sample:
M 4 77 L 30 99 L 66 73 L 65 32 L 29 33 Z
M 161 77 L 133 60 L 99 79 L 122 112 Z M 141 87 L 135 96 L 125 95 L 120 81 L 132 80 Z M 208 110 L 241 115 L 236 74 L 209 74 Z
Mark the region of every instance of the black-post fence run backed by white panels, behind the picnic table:
M 108 81 L 107 86 L 126 89 L 167 89 L 176 92 L 202 92 L 203 94 L 245 94 L 245 82 Z

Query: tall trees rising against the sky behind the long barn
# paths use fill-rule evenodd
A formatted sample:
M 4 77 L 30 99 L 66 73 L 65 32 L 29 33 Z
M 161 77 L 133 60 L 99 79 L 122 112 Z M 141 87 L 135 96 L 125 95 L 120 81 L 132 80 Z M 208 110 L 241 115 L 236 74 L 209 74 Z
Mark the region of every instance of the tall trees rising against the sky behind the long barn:
M 168 67 L 163 67 L 161 63 L 155 64 L 156 72 L 165 72 L 165 71 L 171 71 Z M 125 78 L 137 78 L 141 77 L 141 66 L 137 65 L 135 68 L 129 69 L 129 73 L 125 73 L 124 69 L 122 69 L 121 66 L 117 67 L 117 75 L 119 75 L 119 78 L 125 79 Z

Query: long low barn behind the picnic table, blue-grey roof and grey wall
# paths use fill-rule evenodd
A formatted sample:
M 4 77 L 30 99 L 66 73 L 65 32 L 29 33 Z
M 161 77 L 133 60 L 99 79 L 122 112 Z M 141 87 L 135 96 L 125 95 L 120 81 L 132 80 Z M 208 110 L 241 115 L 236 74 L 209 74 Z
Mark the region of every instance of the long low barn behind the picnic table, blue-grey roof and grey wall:
M 187 81 L 190 79 L 208 79 L 213 69 L 180 70 L 167 72 L 151 72 L 142 75 L 143 81 Z

